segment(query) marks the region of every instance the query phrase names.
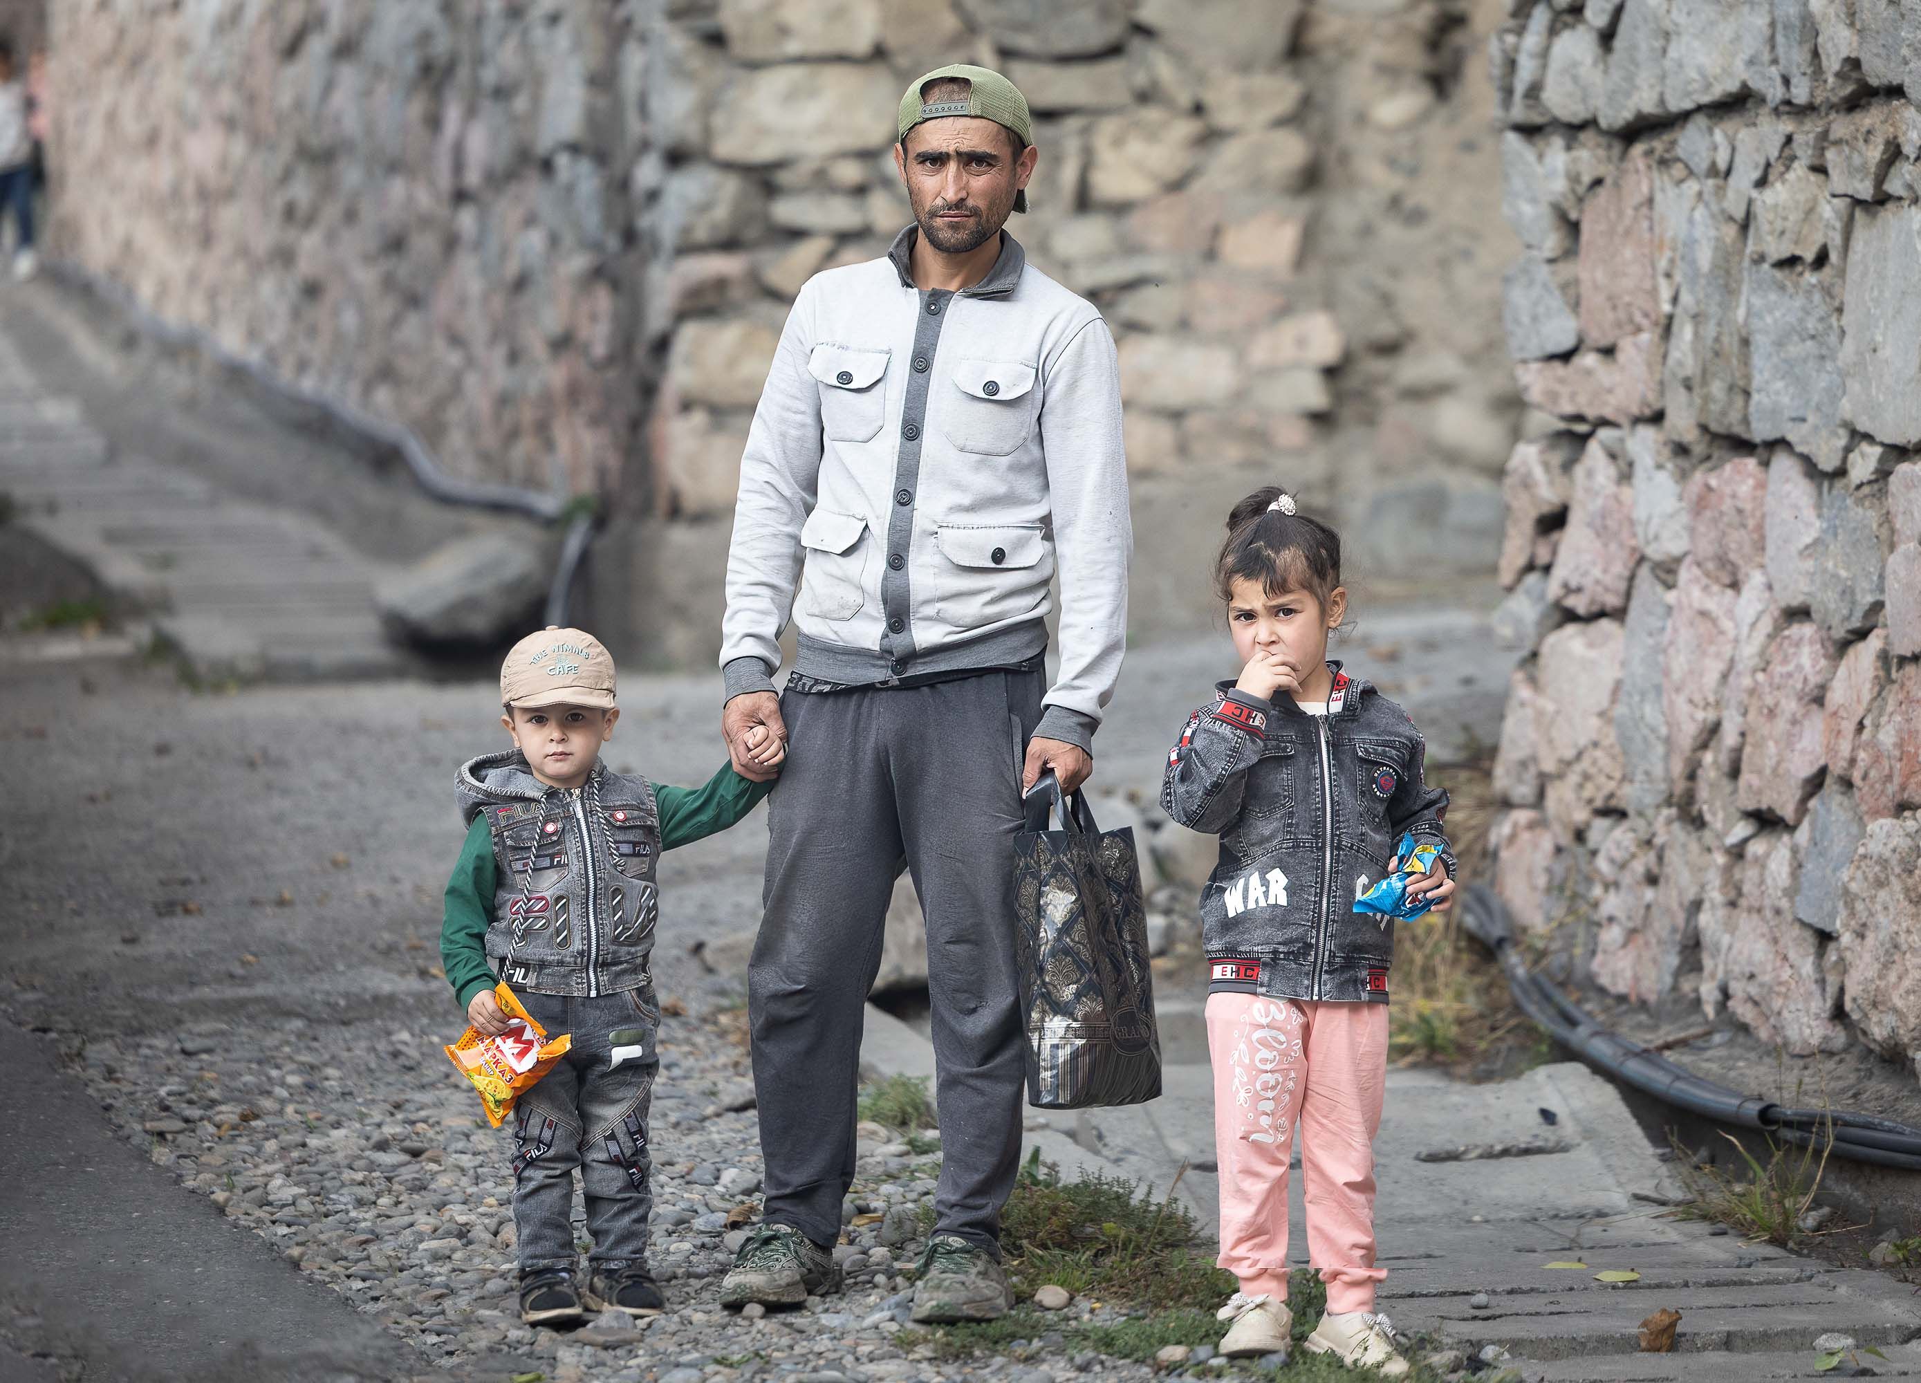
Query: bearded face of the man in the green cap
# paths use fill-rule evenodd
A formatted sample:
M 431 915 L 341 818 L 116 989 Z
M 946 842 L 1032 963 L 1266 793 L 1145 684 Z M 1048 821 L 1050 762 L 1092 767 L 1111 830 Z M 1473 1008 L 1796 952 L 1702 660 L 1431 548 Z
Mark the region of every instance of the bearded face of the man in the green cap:
M 966 254 L 993 240 L 1037 158 L 1032 144 L 1016 156 L 1007 127 L 978 115 L 916 125 L 893 146 L 914 223 L 941 254 Z

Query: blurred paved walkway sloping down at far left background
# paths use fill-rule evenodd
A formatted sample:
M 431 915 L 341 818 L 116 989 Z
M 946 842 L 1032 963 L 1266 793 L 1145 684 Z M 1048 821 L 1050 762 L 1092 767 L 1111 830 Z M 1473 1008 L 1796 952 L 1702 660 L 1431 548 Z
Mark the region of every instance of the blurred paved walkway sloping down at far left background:
M 300 515 L 123 455 L 50 394 L 0 323 L 0 492 L 15 522 L 92 569 L 202 682 L 400 676 L 373 607 L 382 567 Z

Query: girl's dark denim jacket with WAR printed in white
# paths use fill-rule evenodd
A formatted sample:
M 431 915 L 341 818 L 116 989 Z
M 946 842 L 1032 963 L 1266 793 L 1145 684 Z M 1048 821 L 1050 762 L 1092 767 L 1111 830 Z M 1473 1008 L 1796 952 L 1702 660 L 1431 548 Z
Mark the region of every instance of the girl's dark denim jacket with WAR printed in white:
M 1387 870 L 1402 834 L 1435 841 L 1447 793 L 1423 780 L 1427 741 L 1362 678 L 1333 670 L 1327 715 L 1222 682 L 1168 755 L 1160 805 L 1220 836 L 1201 893 L 1216 976 L 1279 999 L 1387 1003 L 1395 928 L 1354 899 Z

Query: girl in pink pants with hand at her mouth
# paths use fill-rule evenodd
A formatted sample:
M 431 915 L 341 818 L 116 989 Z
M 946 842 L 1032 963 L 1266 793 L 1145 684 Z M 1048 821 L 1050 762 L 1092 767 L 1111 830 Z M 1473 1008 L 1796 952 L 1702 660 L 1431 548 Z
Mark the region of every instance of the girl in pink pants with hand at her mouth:
M 1327 1312 L 1306 1348 L 1400 1375 L 1374 1312 L 1374 1133 L 1387 1081 L 1393 924 L 1354 901 L 1391 874 L 1402 834 L 1439 847 L 1410 886 L 1448 907 L 1447 793 L 1422 780 L 1425 741 L 1393 701 L 1339 663 L 1341 538 L 1258 490 L 1228 515 L 1214 569 L 1243 667 L 1193 713 L 1168 755 L 1160 805 L 1220 836 L 1201 895 L 1210 983 L 1220 1266 L 1241 1289 L 1220 1352 L 1287 1347 L 1287 1164 L 1301 1120 L 1308 1252 Z

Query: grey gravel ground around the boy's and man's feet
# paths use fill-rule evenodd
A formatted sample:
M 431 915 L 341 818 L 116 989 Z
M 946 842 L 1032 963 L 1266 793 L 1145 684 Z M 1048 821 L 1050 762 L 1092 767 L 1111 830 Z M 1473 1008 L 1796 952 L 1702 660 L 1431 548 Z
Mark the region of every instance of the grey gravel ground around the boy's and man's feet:
M 841 1295 L 805 1310 L 736 1316 L 717 1306 L 732 1249 L 757 1220 L 761 1156 L 740 1012 L 672 1016 L 655 1087 L 651 1260 L 669 1312 L 597 1318 L 563 1333 L 515 1316 L 509 1137 L 440 1051 L 442 1033 L 338 1031 L 292 1018 L 175 1037 L 96 1039 L 71 1066 L 154 1162 L 207 1195 L 302 1272 L 344 1293 L 442 1368 L 503 1375 L 532 1356 L 549 1379 L 959 1379 L 1043 1383 L 1153 1370 L 1035 1341 L 1012 1358 L 932 1364 L 903 1331 L 899 1268 L 920 1249 L 918 1206 L 936 1156 L 878 1124 L 861 1128 L 861 1179 L 836 1252 Z M 355 1047 L 353 1080 L 342 1047 Z M 730 1229 L 730 1224 L 734 1225 Z M 578 1225 L 576 1206 L 576 1231 Z M 1064 1320 L 1110 1318 L 1070 1304 Z

